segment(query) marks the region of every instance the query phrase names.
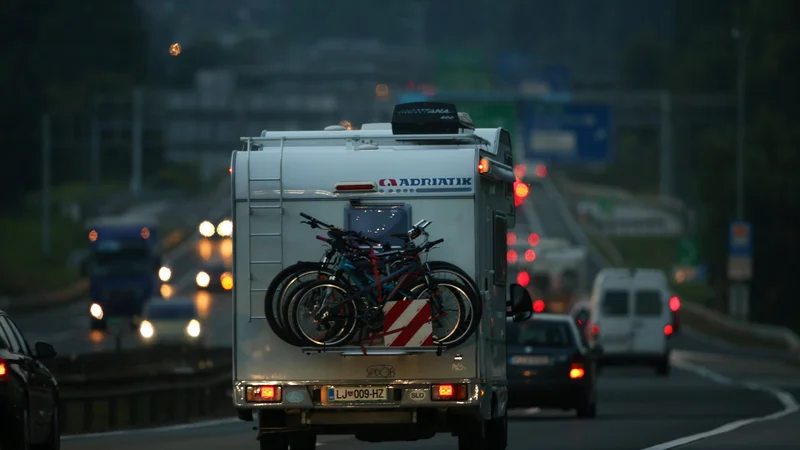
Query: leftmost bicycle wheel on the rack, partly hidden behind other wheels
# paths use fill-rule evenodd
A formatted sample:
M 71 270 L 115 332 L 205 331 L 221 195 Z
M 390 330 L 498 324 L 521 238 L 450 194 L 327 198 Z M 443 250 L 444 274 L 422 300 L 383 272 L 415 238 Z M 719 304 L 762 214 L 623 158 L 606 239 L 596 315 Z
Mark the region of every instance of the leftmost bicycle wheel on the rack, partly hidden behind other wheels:
M 320 271 L 324 270 L 318 262 L 297 262 L 278 272 L 267 287 L 264 295 L 264 316 L 275 335 L 287 344 L 300 345 L 286 322 L 287 294 L 303 281 L 317 279 Z

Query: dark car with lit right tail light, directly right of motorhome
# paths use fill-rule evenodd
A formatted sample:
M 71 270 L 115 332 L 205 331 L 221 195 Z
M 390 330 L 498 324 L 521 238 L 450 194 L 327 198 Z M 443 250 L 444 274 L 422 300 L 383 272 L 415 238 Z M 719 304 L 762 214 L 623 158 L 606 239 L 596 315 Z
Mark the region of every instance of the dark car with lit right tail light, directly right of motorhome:
M 507 333 L 509 407 L 596 415 L 600 348 L 589 347 L 571 316 L 536 314 L 525 322 L 509 322 Z

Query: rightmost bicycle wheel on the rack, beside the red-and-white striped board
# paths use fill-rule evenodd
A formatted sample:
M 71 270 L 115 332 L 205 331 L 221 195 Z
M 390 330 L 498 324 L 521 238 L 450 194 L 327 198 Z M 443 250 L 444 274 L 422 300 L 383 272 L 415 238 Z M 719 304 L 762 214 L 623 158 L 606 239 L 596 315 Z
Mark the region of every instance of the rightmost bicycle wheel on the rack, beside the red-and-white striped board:
M 433 278 L 430 285 L 434 288 L 421 280 L 410 292 L 415 299 L 427 298 L 430 302 L 434 316 L 433 341 L 447 348 L 457 347 L 478 328 L 480 321 L 475 320 L 476 314 L 468 314 L 468 311 L 479 310 L 480 302 L 459 282 Z

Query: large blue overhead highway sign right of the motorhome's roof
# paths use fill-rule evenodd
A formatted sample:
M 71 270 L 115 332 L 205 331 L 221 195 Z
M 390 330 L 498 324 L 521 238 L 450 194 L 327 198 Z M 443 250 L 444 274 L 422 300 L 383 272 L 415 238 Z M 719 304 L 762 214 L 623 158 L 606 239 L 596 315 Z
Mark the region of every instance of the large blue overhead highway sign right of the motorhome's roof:
M 522 107 L 525 158 L 557 164 L 612 160 L 611 106 L 528 102 Z

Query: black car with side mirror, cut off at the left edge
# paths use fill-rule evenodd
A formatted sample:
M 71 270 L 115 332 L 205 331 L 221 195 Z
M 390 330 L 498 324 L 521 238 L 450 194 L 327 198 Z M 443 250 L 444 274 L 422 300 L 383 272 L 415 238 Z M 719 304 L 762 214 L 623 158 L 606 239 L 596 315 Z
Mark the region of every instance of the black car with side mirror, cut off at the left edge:
M 60 447 L 58 383 L 41 362 L 55 356 L 44 342 L 31 352 L 19 328 L 0 311 L 0 448 Z

